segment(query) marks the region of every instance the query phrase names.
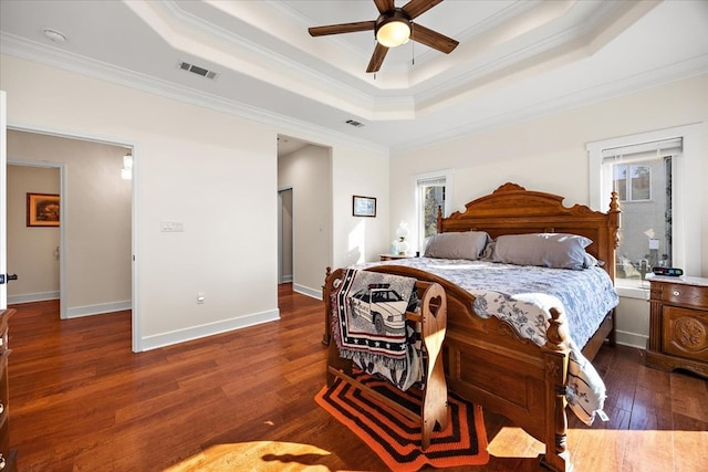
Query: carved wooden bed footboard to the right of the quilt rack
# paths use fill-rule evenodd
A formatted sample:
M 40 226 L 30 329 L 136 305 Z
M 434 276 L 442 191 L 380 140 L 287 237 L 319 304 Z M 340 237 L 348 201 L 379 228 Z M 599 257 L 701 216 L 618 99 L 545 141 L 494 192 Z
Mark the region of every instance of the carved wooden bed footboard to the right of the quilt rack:
M 539 347 L 521 338 L 507 322 L 481 318 L 475 296 L 450 282 L 398 265 L 367 268 L 438 283 L 448 301 L 445 338 L 448 388 L 462 398 L 503 415 L 545 444 L 544 465 L 566 469 L 565 382 L 568 331 L 565 315 L 552 310 L 548 343 Z

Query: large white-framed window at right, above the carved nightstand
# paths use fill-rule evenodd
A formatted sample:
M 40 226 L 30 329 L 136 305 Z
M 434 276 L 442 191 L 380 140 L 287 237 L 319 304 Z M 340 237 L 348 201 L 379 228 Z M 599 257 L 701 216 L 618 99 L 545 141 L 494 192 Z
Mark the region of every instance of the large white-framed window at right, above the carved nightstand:
M 697 125 L 591 143 L 591 206 L 620 200 L 615 283 L 623 296 L 646 297 L 643 280 L 655 266 L 700 273 L 702 188 Z M 698 204 L 696 204 L 698 203 Z

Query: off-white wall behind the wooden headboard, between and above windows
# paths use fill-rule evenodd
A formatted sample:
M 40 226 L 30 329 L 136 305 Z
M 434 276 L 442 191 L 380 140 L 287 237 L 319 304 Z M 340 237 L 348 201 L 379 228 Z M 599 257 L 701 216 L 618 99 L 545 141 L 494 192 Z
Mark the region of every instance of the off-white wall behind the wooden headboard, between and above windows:
M 391 179 L 389 230 L 400 220 L 415 221 L 416 174 L 452 169 L 449 198 L 456 209 L 507 181 L 564 196 L 569 207 L 590 204 L 587 143 L 701 122 L 708 149 L 708 75 L 394 156 L 392 169 L 407 175 L 397 172 Z M 701 180 L 708 181 L 708 165 L 702 166 Z M 708 191 L 701 187 L 691 192 L 695 204 L 702 207 L 701 221 L 693 223 L 701 228 L 702 276 L 708 276 Z M 648 303 L 623 298 L 617 318 L 620 340 L 644 347 Z

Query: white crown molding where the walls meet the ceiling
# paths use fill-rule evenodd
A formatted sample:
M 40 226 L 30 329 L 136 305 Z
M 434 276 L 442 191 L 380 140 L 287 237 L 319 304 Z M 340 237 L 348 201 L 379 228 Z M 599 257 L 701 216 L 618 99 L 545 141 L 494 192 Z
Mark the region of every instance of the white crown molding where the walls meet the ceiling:
M 215 95 L 175 85 L 143 74 L 137 74 L 133 71 L 87 60 L 86 57 L 67 53 L 55 48 L 19 40 L 15 36 L 6 33 L 0 34 L 0 52 L 2 54 L 13 55 L 27 61 L 103 80 L 142 92 L 239 116 L 241 118 L 273 126 L 278 129 L 278 133 L 308 139 L 313 143 L 340 143 L 374 153 L 391 155 L 405 154 L 407 151 L 459 139 L 482 130 L 499 128 L 538 118 L 543 115 L 577 108 L 610 97 L 626 95 L 708 73 L 708 54 L 705 54 L 688 61 L 675 63 L 670 66 L 605 83 L 601 86 L 595 86 L 584 91 L 576 91 L 572 94 L 566 94 L 565 96 L 549 99 L 521 109 L 503 113 L 473 123 L 466 123 L 464 125 L 436 133 L 434 137 L 421 137 L 420 139 L 409 140 L 405 145 L 387 147 L 366 139 L 353 137 L 348 134 L 334 132 L 306 122 L 296 120 L 257 107 L 227 101 Z

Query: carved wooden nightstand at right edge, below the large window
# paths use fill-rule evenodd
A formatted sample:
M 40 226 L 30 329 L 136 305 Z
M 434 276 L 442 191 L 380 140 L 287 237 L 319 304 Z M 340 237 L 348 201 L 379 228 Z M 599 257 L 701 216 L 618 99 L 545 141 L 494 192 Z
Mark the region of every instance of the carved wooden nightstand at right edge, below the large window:
M 708 377 L 708 279 L 647 275 L 652 285 L 646 365 Z

